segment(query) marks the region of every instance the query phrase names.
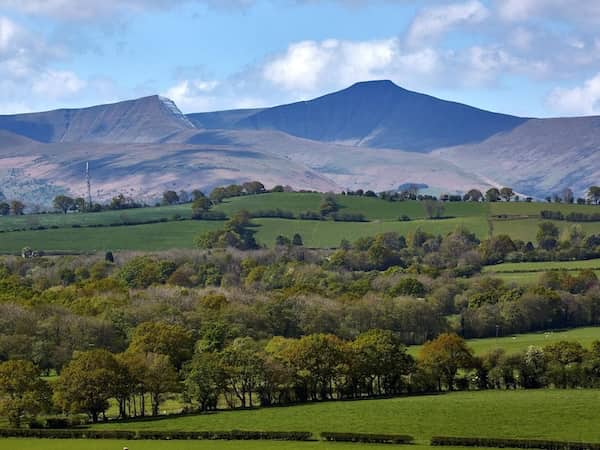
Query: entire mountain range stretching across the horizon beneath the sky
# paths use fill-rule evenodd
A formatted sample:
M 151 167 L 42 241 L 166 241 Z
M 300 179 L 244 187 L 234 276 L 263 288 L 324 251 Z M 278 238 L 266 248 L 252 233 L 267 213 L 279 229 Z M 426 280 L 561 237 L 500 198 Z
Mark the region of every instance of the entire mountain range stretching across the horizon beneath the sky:
M 82 195 L 152 201 L 167 189 L 259 179 L 296 189 L 431 192 L 511 186 L 534 197 L 598 184 L 600 117 L 498 114 L 357 83 L 272 108 L 184 115 L 150 96 L 82 109 L 0 116 L 0 191 L 48 205 Z

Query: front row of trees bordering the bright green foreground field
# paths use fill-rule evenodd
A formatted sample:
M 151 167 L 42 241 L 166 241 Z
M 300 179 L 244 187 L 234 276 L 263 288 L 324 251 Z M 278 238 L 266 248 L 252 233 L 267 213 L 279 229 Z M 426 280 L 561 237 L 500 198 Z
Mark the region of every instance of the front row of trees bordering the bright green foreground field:
M 311 334 L 224 343 L 207 335 L 194 343 L 177 325 L 148 322 L 135 330 L 123 353 L 76 354 L 52 388 L 30 361 L 0 363 L 0 413 L 19 427 L 41 412 L 86 414 L 98 422 L 106 418 L 111 399 L 119 418 L 157 416 L 169 393 L 181 393 L 186 410 L 206 412 L 220 405 L 246 408 L 455 389 L 598 386 L 598 341 L 590 350 L 560 341 L 514 354 L 498 349 L 476 356 L 463 338 L 444 333 L 414 358 L 393 332 L 379 329 L 352 340 Z

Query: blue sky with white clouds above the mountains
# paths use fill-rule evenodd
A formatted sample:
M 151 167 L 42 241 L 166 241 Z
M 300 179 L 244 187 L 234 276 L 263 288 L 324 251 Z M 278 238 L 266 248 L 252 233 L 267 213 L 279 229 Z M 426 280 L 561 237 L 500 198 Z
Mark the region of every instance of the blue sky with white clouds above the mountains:
M 160 94 L 185 113 L 396 84 L 600 114 L 598 0 L 0 0 L 0 114 Z

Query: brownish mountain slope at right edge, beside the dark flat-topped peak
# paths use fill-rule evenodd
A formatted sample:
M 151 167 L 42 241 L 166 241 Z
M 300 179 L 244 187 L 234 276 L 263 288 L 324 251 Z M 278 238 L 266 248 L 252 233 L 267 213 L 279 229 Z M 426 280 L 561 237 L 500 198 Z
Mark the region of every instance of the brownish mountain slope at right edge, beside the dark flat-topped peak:
M 436 155 L 538 197 L 600 180 L 600 117 L 534 119 L 477 144 Z

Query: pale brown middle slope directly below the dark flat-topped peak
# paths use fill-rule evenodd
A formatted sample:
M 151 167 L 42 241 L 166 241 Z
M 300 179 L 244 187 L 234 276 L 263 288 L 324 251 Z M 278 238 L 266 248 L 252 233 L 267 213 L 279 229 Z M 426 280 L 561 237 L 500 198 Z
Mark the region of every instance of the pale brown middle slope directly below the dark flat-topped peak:
M 188 137 L 187 143 L 268 152 L 310 168 L 340 189 L 384 191 L 408 183 L 424 183 L 435 192 L 490 187 L 477 174 L 436 156 L 318 142 L 280 131 L 206 130 Z M 296 187 L 293 179 L 286 184 Z

